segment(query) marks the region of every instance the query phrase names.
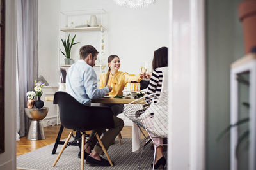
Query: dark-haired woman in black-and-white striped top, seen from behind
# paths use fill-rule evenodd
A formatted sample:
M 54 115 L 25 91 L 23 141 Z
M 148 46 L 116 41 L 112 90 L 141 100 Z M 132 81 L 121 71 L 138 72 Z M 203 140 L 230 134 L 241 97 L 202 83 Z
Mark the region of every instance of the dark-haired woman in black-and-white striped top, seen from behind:
M 147 75 L 150 77 L 148 90 L 147 90 L 147 101 L 150 101 L 150 98 L 154 96 L 148 96 L 150 94 L 154 94 L 156 92 L 163 92 L 168 90 L 168 48 L 161 47 L 154 51 L 154 57 L 152 61 L 152 75 Z M 154 101 L 156 102 L 156 100 Z M 153 115 L 154 117 L 154 115 Z M 151 117 L 151 118 L 153 118 Z M 151 122 L 152 120 L 148 120 Z M 151 134 L 153 137 L 154 134 Z M 163 155 L 163 139 L 162 138 L 153 138 L 154 143 L 158 146 L 156 148 L 156 160 L 154 162 L 154 169 L 158 169 L 160 166 L 165 166 L 166 159 Z

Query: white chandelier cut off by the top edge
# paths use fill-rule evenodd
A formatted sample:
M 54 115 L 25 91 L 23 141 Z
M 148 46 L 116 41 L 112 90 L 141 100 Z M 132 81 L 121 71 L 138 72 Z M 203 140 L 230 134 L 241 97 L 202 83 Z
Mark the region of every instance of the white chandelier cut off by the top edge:
M 156 0 L 114 0 L 116 4 L 127 8 L 142 8 L 153 4 Z

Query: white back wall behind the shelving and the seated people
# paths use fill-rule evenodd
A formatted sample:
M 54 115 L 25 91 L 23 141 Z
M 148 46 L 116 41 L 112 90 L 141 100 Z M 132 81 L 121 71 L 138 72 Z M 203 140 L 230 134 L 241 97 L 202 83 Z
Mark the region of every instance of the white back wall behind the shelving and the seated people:
M 117 6 L 113 0 L 58 0 L 51 1 L 51 5 L 49 0 L 39 0 L 39 75 L 50 85 L 57 84 L 59 10 L 99 8 L 106 10 L 108 16 L 106 58 L 116 54 L 121 59 L 120 71 L 138 74 L 141 62 L 151 62 L 154 50 L 168 46 L 168 3 L 168 0 L 156 1 L 147 8 L 134 10 Z M 76 39 L 80 41 L 78 36 Z M 76 48 L 82 45 L 74 46 L 72 57 L 79 58 Z

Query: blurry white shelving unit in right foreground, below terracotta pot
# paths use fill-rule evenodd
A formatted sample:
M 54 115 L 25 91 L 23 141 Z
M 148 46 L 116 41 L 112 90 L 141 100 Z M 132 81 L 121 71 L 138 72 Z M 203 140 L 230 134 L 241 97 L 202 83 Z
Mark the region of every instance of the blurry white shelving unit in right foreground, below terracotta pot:
M 250 53 L 231 65 L 230 73 L 230 123 L 236 124 L 239 118 L 239 82 L 237 76 L 241 73 L 249 73 L 249 169 L 256 169 L 256 55 Z M 238 169 L 236 146 L 238 143 L 238 127 L 232 127 L 230 131 L 230 169 Z

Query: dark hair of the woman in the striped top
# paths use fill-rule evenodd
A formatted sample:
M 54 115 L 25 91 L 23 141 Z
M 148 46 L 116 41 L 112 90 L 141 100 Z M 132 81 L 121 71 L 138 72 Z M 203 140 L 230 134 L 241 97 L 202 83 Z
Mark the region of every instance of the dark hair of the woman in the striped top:
M 154 51 L 152 69 L 168 66 L 168 48 L 163 46 Z

